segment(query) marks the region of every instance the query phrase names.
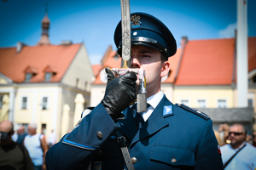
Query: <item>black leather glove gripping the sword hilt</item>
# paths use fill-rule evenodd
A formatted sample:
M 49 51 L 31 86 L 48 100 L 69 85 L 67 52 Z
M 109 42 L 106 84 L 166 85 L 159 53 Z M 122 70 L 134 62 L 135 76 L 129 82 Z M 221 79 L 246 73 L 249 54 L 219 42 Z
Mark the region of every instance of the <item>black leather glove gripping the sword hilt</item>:
M 131 72 L 108 82 L 102 105 L 113 120 L 122 118 L 121 112 L 136 99 L 136 81 L 136 74 Z

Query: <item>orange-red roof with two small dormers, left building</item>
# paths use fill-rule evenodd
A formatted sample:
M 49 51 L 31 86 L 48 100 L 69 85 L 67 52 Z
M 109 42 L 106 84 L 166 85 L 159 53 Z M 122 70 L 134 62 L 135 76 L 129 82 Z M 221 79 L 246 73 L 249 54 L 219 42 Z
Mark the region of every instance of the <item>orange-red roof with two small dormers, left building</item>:
M 31 82 L 44 82 L 44 71 L 50 70 L 56 74 L 49 82 L 60 82 L 81 45 L 25 46 L 20 53 L 16 48 L 0 48 L 0 72 L 14 82 L 24 82 L 29 69 L 36 73 Z

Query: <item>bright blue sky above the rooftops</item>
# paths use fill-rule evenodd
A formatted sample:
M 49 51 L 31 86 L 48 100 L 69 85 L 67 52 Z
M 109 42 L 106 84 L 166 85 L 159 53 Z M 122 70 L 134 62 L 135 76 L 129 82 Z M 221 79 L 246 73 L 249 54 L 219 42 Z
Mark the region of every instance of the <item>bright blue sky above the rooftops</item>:
M 0 0 L 0 48 L 16 42 L 34 46 L 48 3 L 49 40 L 84 42 L 91 64 L 99 64 L 121 19 L 119 0 Z M 172 31 L 179 45 L 189 40 L 234 37 L 236 0 L 130 0 L 131 13 L 153 14 Z M 247 0 L 248 36 L 256 36 L 256 1 Z

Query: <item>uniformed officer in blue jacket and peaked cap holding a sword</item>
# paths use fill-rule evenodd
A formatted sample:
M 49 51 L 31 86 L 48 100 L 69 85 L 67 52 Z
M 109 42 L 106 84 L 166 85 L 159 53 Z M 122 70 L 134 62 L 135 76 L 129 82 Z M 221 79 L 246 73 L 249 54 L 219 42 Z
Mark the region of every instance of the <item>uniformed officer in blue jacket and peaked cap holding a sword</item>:
M 120 133 L 135 169 L 223 169 L 212 120 L 201 111 L 173 105 L 160 89 L 161 78 L 170 70 L 168 57 L 177 50 L 171 31 L 149 14 L 134 13 L 131 19 L 131 68 L 146 71 L 149 107 L 142 113 L 144 122 L 137 125 L 136 107 L 129 106 L 136 99 L 137 76 L 113 77 L 106 70 L 102 102 L 50 148 L 47 169 L 127 168 L 117 140 Z M 114 33 L 118 54 L 121 41 L 119 22 Z

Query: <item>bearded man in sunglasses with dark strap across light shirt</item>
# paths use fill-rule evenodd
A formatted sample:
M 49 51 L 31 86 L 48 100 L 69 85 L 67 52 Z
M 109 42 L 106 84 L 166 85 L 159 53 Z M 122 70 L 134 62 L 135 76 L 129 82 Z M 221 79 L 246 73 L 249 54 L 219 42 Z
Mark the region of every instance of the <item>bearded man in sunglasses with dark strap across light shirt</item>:
M 246 142 L 246 128 L 236 123 L 230 127 L 230 144 L 220 147 L 225 170 L 256 168 L 256 149 Z

